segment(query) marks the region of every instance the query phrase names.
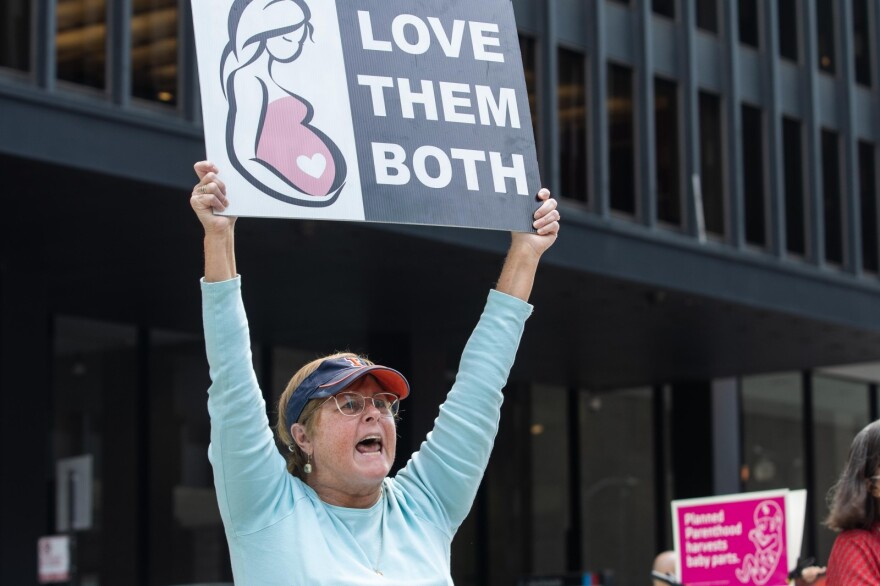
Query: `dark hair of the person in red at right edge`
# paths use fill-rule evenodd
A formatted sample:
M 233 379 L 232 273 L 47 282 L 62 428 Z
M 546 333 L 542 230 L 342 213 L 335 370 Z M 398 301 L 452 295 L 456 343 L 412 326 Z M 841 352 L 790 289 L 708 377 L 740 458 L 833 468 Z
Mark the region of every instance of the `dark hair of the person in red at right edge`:
M 880 420 L 865 426 L 853 439 L 849 458 L 837 484 L 828 493 L 830 514 L 825 525 L 834 531 L 870 529 L 878 517 L 872 476 L 880 471 Z

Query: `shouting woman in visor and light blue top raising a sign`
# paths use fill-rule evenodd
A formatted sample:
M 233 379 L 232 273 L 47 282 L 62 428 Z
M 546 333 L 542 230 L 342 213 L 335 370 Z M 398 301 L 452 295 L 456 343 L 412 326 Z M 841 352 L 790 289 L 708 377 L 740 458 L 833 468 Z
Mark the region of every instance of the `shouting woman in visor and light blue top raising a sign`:
M 235 219 L 213 215 L 228 204 L 217 168 L 195 169 L 190 202 L 205 230 L 209 458 L 236 585 L 452 584 L 450 544 L 488 463 L 538 261 L 559 231 L 556 201 L 541 190 L 537 233 L 512 235 L 433 432 L 388 478 L 394 415 L 409 385 L 351 354 L 293 376 L 278 405 L 287 445 L 286 458 L 278 454 L 251 367 Z

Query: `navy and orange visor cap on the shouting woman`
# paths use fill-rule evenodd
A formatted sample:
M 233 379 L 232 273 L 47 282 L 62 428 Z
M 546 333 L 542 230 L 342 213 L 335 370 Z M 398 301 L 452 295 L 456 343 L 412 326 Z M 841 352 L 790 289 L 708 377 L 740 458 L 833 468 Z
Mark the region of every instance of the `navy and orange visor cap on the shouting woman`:
M 399 399 L 406 399 L 409 395 L 406 377 L 393 368 L 379 364 L 369 365 L 357 356 L 328 358 L 291 395 L 284 411 L 287 424 L 291 425 L 299 420 L 303 408 L 310 400 L 332 397 L 367 374 L 374 376 L 384 391 L 397 395 Z

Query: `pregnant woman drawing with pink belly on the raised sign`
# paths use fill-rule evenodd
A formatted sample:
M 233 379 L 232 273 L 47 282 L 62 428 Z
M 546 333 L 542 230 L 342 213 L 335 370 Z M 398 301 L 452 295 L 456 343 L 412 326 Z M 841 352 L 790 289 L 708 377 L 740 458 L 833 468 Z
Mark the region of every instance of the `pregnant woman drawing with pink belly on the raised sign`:
M 314 25 L 305 0 L 235 0 L 220 60 L 229 104 L 226 148 L 233 167 L 283 202 L 331 205 L 346 178 L 339 147 L 311 124 L 314 108 L 277 70 L 303 54 Z M 305 86 L 316 80 L 295 80 Z M 239 108 L 239 104 L 259 107 Z

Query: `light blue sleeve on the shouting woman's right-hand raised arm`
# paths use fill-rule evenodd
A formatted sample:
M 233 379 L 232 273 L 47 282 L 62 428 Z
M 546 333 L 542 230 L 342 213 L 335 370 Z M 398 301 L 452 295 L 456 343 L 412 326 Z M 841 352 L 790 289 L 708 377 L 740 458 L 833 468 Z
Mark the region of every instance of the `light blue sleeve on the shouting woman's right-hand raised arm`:
M 434 428 L 395 482 L 453 534 L 467 516 L 498 431 L 501 392 L 532 306 L 491 291 Z

